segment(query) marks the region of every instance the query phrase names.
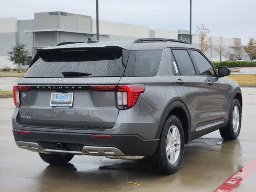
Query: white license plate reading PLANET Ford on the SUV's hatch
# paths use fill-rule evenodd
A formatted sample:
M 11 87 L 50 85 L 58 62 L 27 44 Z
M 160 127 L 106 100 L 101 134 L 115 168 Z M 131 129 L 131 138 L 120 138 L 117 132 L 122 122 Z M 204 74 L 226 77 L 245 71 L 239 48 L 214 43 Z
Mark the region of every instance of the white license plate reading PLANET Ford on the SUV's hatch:
M 74 93 L 52 93 L 50 106 L 71 107 Z

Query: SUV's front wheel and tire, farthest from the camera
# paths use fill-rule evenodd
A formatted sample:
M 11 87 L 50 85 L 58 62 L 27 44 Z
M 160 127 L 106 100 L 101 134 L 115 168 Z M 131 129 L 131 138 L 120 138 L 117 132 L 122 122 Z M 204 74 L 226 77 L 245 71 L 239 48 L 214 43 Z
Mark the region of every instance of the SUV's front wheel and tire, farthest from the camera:
M 235 108 L 239 112 L 238 114 L 239 122 L 237 122 L 238 117 L 237 117 L 237 113 L 235 112 Z M 234 121 L 235 116 L 236 116 L 236 121 Z M 220 129 L 221 137 L 225 140 L 234 140 L 238 138 L 241 130 L 241 122 L 242 122 L 241 106 L 239 101 L 237 99 L 234 99 L 230 106 L 228 125 Z

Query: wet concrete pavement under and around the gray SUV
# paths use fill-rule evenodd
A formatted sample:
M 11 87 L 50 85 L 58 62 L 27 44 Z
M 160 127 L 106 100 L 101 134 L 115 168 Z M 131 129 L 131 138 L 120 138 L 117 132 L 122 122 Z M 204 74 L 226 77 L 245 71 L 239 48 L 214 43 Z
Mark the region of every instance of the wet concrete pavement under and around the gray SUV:
M 12 136 L 12 98 L 0 99 L 0 192 L 212 192 L 256 158 L 256 88 L 242 88 L 242 130 L 224 141 L 218 131 L 185 145 L 172 175 L 154 173 L 143 161 L 75 156 L 68 166 L 50 166 L 36 152 L 20 149 Z M 255 191 L 256 171 L 234 191 Z M 136 182 L 136 184 L 127 184 Z

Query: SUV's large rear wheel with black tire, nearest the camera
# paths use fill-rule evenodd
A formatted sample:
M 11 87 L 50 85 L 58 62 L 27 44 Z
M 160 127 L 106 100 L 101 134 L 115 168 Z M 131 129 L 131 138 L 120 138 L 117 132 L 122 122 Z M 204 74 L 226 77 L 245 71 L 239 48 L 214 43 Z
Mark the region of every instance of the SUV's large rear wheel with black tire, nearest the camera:
M 170 130 L 170 133 L 174 133 L 173 130 L 177 128 L 177 140 L 178 141 L 178 133 L 180 136 L 180 151 L 178 154 L 176 154 L 176 149 L 178 148 L 177 144 L 174 144 L 173 148 L 172 145 L 170 146 L 170 143 L 168 141 L 168 132 Z M 172 135 L 172 134 L 171 134 Z M 173 135 L 172 135 L 173 136 Z M 172 152 L 169 156 L 167 156 L 166 148 L 171 147 Z M 170 148 L 169 148 L 170 149 Z M 175 149 L 175 161 L 174 156 L 171 158 L 171 155 L 173 154 L 173 150 Z M 172 174 L 176 172 L 180 166 L 182 157 L 184 153 L 184 131 L 182 128 L 182 124 L 180 123 L 180 120 L 177 116 L 171 115 L 166 119 L 166 122 L 164 123 L 162 133 L 160 136 L 160 141 L 158 144 L 158 148 L 156 149 L 156 152 L 153 156 L 148 157 L 148 162 L 150 166 L 156 170 L 156 172 L 162 173 L 162 174 Z

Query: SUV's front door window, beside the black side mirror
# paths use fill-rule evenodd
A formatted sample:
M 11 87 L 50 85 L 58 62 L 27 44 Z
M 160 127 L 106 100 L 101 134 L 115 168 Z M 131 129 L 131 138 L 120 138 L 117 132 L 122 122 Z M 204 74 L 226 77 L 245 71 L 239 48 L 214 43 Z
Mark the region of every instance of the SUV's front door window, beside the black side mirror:
M 191 50 L 191 54 L 196 61 L 197 67 L 199 69 L 200 75 L 214 76 L 215 72 L 212 65 L 202 56 L 198 51 Z

